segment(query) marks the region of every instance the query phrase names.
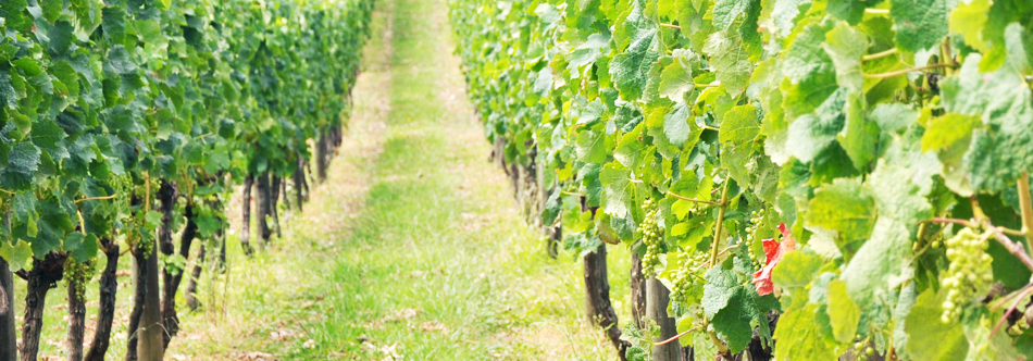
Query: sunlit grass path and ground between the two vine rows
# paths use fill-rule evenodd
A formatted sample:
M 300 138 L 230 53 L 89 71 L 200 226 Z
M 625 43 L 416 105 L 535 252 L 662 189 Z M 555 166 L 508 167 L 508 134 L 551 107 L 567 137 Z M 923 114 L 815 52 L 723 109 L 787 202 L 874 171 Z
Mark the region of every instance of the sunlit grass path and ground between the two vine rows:
M 206 308 L 181 311 L 166 358 L 614 359 L 583 320 L 580 263 L 546 256 L 502 171 L 486 162 L 444 1 L 377 7 L 354 116 L 327 182 L 303 213 L 284 215 L 284 237 L 253 259 L 231 235 L 229 272 L 202 276 Z M 239 200 L 231 207 L 239 213 Z M 610 262 L 626 321 L 626 251 L 614 249 Z M 130 292 L 122 281 L 120 314 Z M 63 292 L 51 294 L 45 338 L 54 341 L 41 354 L 61 353 Z M 94 285 L 88 297 L 97 298 Z M 121 336 L 111 359 L 124 352 Z

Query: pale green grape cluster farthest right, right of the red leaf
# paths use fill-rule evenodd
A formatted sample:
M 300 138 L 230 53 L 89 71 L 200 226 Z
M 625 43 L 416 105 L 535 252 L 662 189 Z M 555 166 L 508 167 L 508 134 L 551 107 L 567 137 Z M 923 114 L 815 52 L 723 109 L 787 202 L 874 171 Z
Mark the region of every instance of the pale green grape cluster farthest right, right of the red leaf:
M 981 237 L 972 228 L 963 228 L 944 245 L 947 246 L 950 266 L 942 282 L 947 300 L 941 319 L 947 323 L 961 315 L 961 306 L 967 299 L 986 291 L 994 274 L 991 269 L 993 259 L 986 254 L 988 237 Z

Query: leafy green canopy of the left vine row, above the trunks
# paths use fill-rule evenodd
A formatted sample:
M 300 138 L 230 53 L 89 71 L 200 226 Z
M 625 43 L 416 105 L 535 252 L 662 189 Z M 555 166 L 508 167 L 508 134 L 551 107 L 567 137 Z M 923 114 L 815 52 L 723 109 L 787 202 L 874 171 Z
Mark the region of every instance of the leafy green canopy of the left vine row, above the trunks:
M 372 5 L 4 1 L 0 256 L 18 270 L 51 251 L 84 262 L 101 237 L 146 244 L 159 179 L 212 236 L 225 216 L 206 200 L 293 174 L 307 140 L 341 124 Z

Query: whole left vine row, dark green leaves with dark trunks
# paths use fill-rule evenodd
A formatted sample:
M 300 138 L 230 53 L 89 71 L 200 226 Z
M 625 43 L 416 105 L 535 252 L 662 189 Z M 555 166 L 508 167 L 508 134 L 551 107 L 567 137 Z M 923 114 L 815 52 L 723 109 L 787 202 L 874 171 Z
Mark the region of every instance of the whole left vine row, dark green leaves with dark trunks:
M 178 329 L 181 284 L 200 308 L 202 270 L 225 266 L 237 186 L 251 252 L 279 233 L 277 209 L 300 210 L 325 177 L 372 5 L 0 2 L 0 359 L 38 358 L 48 291 L 65 279 L 70 360 L 113 358 L 119 291 L 133 294 L 125 359 L 161 360 Z M 120 290 L 125 253 L 134 283 Z M 86 340 L 85 287 L 98 273 Z M 14 276 L 27 287 L 21 325 Z

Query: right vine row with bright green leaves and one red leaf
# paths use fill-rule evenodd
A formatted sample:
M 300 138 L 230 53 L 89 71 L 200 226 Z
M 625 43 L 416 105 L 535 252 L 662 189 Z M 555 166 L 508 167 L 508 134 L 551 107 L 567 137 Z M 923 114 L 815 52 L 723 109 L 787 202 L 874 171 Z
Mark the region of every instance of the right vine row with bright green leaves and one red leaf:
M 450 7 L 621 359 L 1033 359 L 1033 2 Z

